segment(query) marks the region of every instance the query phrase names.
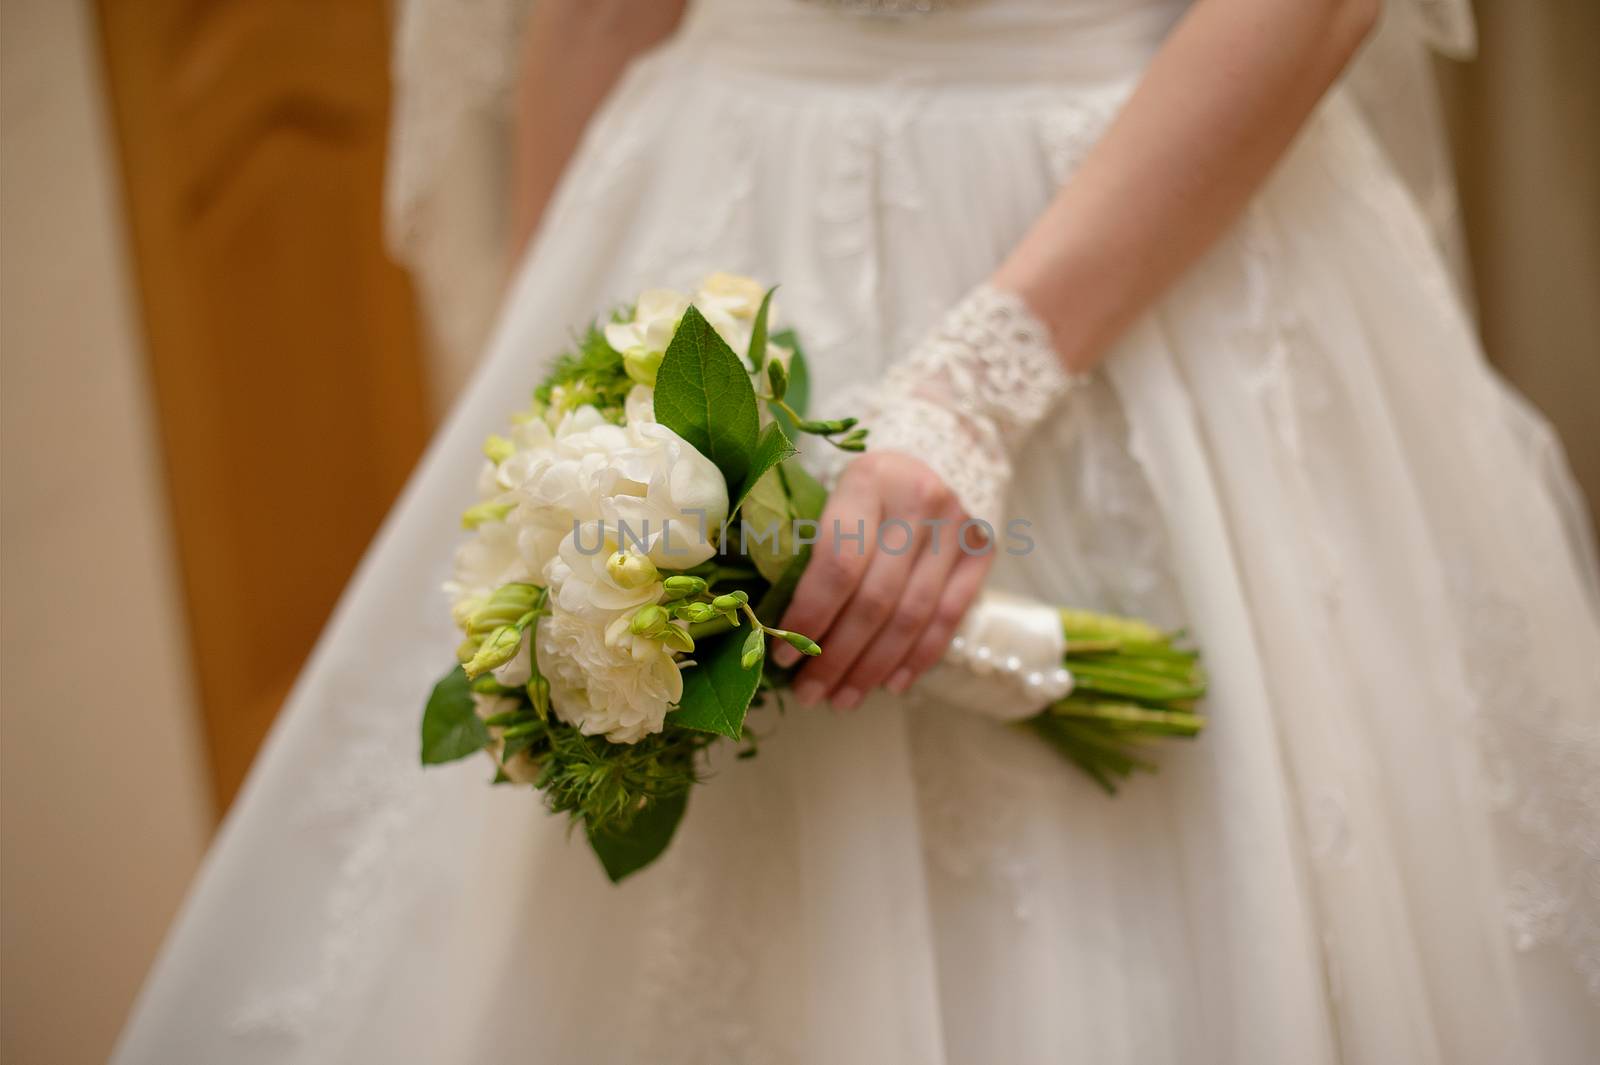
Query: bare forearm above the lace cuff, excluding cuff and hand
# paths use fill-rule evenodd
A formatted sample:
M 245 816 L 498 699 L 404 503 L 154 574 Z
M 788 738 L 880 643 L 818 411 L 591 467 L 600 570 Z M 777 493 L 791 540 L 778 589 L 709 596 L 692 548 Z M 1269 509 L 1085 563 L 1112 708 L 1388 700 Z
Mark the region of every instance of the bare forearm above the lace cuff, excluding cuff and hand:
M 995 273 L 1088 369 L 1240 213 L 1381 0 L 1200 0 Z

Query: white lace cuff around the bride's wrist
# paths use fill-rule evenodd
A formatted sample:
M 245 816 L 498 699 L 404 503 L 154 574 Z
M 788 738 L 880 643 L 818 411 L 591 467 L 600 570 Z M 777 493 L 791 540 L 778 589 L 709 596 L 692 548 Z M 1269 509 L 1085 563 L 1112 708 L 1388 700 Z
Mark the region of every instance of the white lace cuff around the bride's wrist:
M 1027 305 L 981 285 L 890 369 L 869 443 L 926 462 L 968 515 L 995 529 L 1011 456 L 1072 382 Z

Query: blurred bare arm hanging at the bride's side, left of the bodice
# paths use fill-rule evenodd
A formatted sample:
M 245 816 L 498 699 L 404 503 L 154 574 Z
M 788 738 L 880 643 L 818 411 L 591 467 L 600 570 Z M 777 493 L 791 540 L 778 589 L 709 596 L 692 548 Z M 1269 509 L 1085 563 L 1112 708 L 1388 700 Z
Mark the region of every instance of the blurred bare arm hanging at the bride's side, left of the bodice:
M 664 40 L 685 0 L 534 0 L 522 42 L 512 248 L 539 224 L 578 139 L 630 59 Z M 515 259 L 515 256 L 514 256 Z

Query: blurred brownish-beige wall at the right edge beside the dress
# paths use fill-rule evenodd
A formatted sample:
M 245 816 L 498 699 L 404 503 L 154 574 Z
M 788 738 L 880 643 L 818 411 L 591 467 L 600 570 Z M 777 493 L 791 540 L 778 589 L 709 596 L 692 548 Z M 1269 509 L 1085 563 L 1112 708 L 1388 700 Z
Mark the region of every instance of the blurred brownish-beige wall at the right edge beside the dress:
M 1600 518 L 1600 3 L 1477 11 L 1477 59 L 1442 74 L 1483 345 Z

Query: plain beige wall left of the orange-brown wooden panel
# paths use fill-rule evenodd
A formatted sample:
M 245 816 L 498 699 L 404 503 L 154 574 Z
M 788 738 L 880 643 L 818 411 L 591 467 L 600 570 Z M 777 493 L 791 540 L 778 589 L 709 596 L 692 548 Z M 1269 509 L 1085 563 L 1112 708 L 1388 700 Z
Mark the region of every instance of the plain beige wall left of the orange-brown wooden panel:
M 90 18 L 0 0 L 11 1065 L 106 1059 L 211 825 Z

